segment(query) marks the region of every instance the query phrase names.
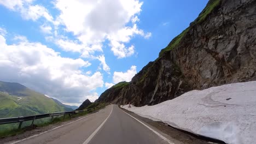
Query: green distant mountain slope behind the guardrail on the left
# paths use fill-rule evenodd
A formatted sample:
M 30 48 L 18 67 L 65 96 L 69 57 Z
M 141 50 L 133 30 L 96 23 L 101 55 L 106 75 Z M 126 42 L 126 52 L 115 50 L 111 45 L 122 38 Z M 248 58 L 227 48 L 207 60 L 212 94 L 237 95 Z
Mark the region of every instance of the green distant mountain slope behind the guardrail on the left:
M 53 99 L 19 83 L 0 81 L 0 118 L 60 112 L 65 109 Z

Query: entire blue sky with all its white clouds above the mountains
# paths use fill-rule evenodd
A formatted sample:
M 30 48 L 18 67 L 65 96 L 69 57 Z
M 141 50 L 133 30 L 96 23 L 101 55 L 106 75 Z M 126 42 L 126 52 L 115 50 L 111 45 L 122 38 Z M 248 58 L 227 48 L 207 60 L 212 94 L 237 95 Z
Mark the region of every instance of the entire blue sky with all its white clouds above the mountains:
M 0 80 L 93 101 L 154 61 L 207 2 L 0 0 Z

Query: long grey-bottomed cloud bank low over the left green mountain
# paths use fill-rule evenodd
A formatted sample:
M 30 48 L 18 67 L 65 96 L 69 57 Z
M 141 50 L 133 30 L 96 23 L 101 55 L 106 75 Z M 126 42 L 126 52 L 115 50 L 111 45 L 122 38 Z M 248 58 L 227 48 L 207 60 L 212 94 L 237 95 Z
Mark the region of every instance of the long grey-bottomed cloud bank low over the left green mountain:
M 0 35 L 0 79 L 24 84 L 36 91 L 61 99 L 65 103 L 94 100 L 93 92 L 102 87 L 102 74 L 96 71 L 84 75 L 82 69 L 90 62 L 61 57 L 60 53 L 40 43 L 31 43 L 17 36 L 17 43 L 9 45 Z M 89 73 L 88 73 L 89 74 Z

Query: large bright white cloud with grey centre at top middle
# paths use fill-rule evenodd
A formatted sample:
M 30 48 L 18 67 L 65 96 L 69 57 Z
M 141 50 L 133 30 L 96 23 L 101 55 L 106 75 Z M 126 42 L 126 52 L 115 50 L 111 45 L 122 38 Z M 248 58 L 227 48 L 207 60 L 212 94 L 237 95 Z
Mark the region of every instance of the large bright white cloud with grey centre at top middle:
M 65 30 L 72 32 L 86 47 L 109 40 L 112 51 L 118 58 L 129 57 L 135 53 L 134 45 L 125 46 L 133 36 L 151 36 L 136 25 L 139 21 L 137 15 L 141 12 L 143 4 L 139 0 L 56 0 L 54 4 L 61 11 L 55 23 L 65 26 Z M 126 26 L 129 22 L 132 22 L 132 27 Z M 83 55 L 88 56 L 88 51 Z

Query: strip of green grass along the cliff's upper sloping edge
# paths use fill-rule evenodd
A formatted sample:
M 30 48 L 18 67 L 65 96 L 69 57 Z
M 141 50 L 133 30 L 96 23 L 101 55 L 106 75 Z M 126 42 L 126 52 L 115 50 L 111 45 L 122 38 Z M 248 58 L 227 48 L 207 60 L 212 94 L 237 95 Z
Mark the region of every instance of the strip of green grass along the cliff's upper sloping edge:
M 192 22 L 191 25 L 188 28 L 186 28 L 181 34 L 179 34 L 177 37 L 172 39 L 171 43 L 169 43 L 168 46 L 165 47 L 165 49 L 162 49 L 160 51 L 159 57 L 161 57 L 165 52 L 171 51 L 175 47 L 177 47 L 179 45 L 179 43 L 181 42 L 181 40 L 183 39 L 184 35 L 186 35 L 188 33 L 188 31 L 190 30 L 191 26 L 196 25 L 196 24 L 200 24 L 203 21 L 205 21 L 206 17 L 209 14 L 211 14 L 211 12 L 216 7 L 218 7 L 219 4 L 220 4 L 220 0 L 211 0 L 211 1 L 209 1 L 208 4 L 206 5 L 206 7 L 202 10 L 202 12 L 199 14 L 199 16 L 195 19 L 195 21 Z

